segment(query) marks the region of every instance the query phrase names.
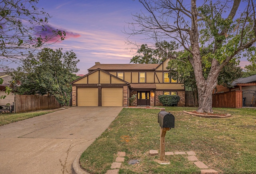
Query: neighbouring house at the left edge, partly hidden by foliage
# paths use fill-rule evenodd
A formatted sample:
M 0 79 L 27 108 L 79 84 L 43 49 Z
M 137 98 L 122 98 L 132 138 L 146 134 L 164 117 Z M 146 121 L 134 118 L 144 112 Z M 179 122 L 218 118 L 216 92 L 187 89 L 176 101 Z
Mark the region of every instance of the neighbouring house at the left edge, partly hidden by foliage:
M 10 103 L 10 105 L 14 102 L 14 93 L 10 93 L 7 95 L 5 93 L 5 87 L 10 85 L 10 81 L 12 81 L 12 76 L 7 75 L 4 72 L 0 72 L 0 78 L 2 78 L 4 81 L 2 84 L 0 84 L 0 96 L 6 95 L 4 99 L 0 99 L 0 105 L 6 105 L 7 103 Z

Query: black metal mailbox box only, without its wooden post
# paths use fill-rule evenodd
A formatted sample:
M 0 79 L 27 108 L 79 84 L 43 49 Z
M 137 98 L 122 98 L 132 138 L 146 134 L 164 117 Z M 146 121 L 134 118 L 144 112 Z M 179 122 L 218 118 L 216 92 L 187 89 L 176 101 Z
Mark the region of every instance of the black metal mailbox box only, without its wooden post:
M 174 128 L 174 116 L 166 111 L 160 111 L 158 113 L 158 123 L 160 127 Z

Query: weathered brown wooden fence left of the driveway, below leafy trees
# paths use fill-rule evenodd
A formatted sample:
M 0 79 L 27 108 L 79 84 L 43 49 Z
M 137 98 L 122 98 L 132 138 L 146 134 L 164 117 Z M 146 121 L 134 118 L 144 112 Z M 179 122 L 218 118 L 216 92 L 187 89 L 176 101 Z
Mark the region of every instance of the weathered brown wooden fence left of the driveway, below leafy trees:
M 60 108 L 54 96 L 42 95 L 18 95 L 14 97 L 14 112 L 22 113 L 26 111 L 35 111 L 42 109 L 56 109 Z

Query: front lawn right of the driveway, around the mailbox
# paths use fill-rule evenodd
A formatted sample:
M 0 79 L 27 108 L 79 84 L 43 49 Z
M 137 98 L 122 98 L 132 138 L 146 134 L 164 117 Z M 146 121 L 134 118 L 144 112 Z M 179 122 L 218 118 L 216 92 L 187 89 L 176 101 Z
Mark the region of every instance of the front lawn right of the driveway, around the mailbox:
M 198 160 L 224 174 L 256 174 L 256 109 L 214 108 L 230 113 L 224 119 L 202 118 L 183 113 L 195 108 L 166 107 L 175 117 L 175 128 L 167 131 L 165 151 L 194 151 Z M 169 165 L 158 164 L 160 155 L 160 109 L 124 108 L 110 127 L 82 154 L 80 164 L 91 174 L 110 170 L 118 151 L 126 152 L 120 174 L 200 174 L 186 156 L 165 156 Z M 131 159 L 140 164 L 130 165 Z

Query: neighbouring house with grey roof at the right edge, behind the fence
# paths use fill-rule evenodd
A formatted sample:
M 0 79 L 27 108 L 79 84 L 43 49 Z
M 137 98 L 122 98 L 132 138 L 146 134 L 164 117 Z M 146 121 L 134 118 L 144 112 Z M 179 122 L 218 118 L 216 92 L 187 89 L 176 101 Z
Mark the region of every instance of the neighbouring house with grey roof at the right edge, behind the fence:
M 241 100 L 243 107 L 256 107 L 256 75 L 236 79 L 231 85 L 230 88 L 217 85 L 213 94 L 238 91 L 235 98 Z M 242 96 L 238 96 L 239 90 L 242 90 Z

